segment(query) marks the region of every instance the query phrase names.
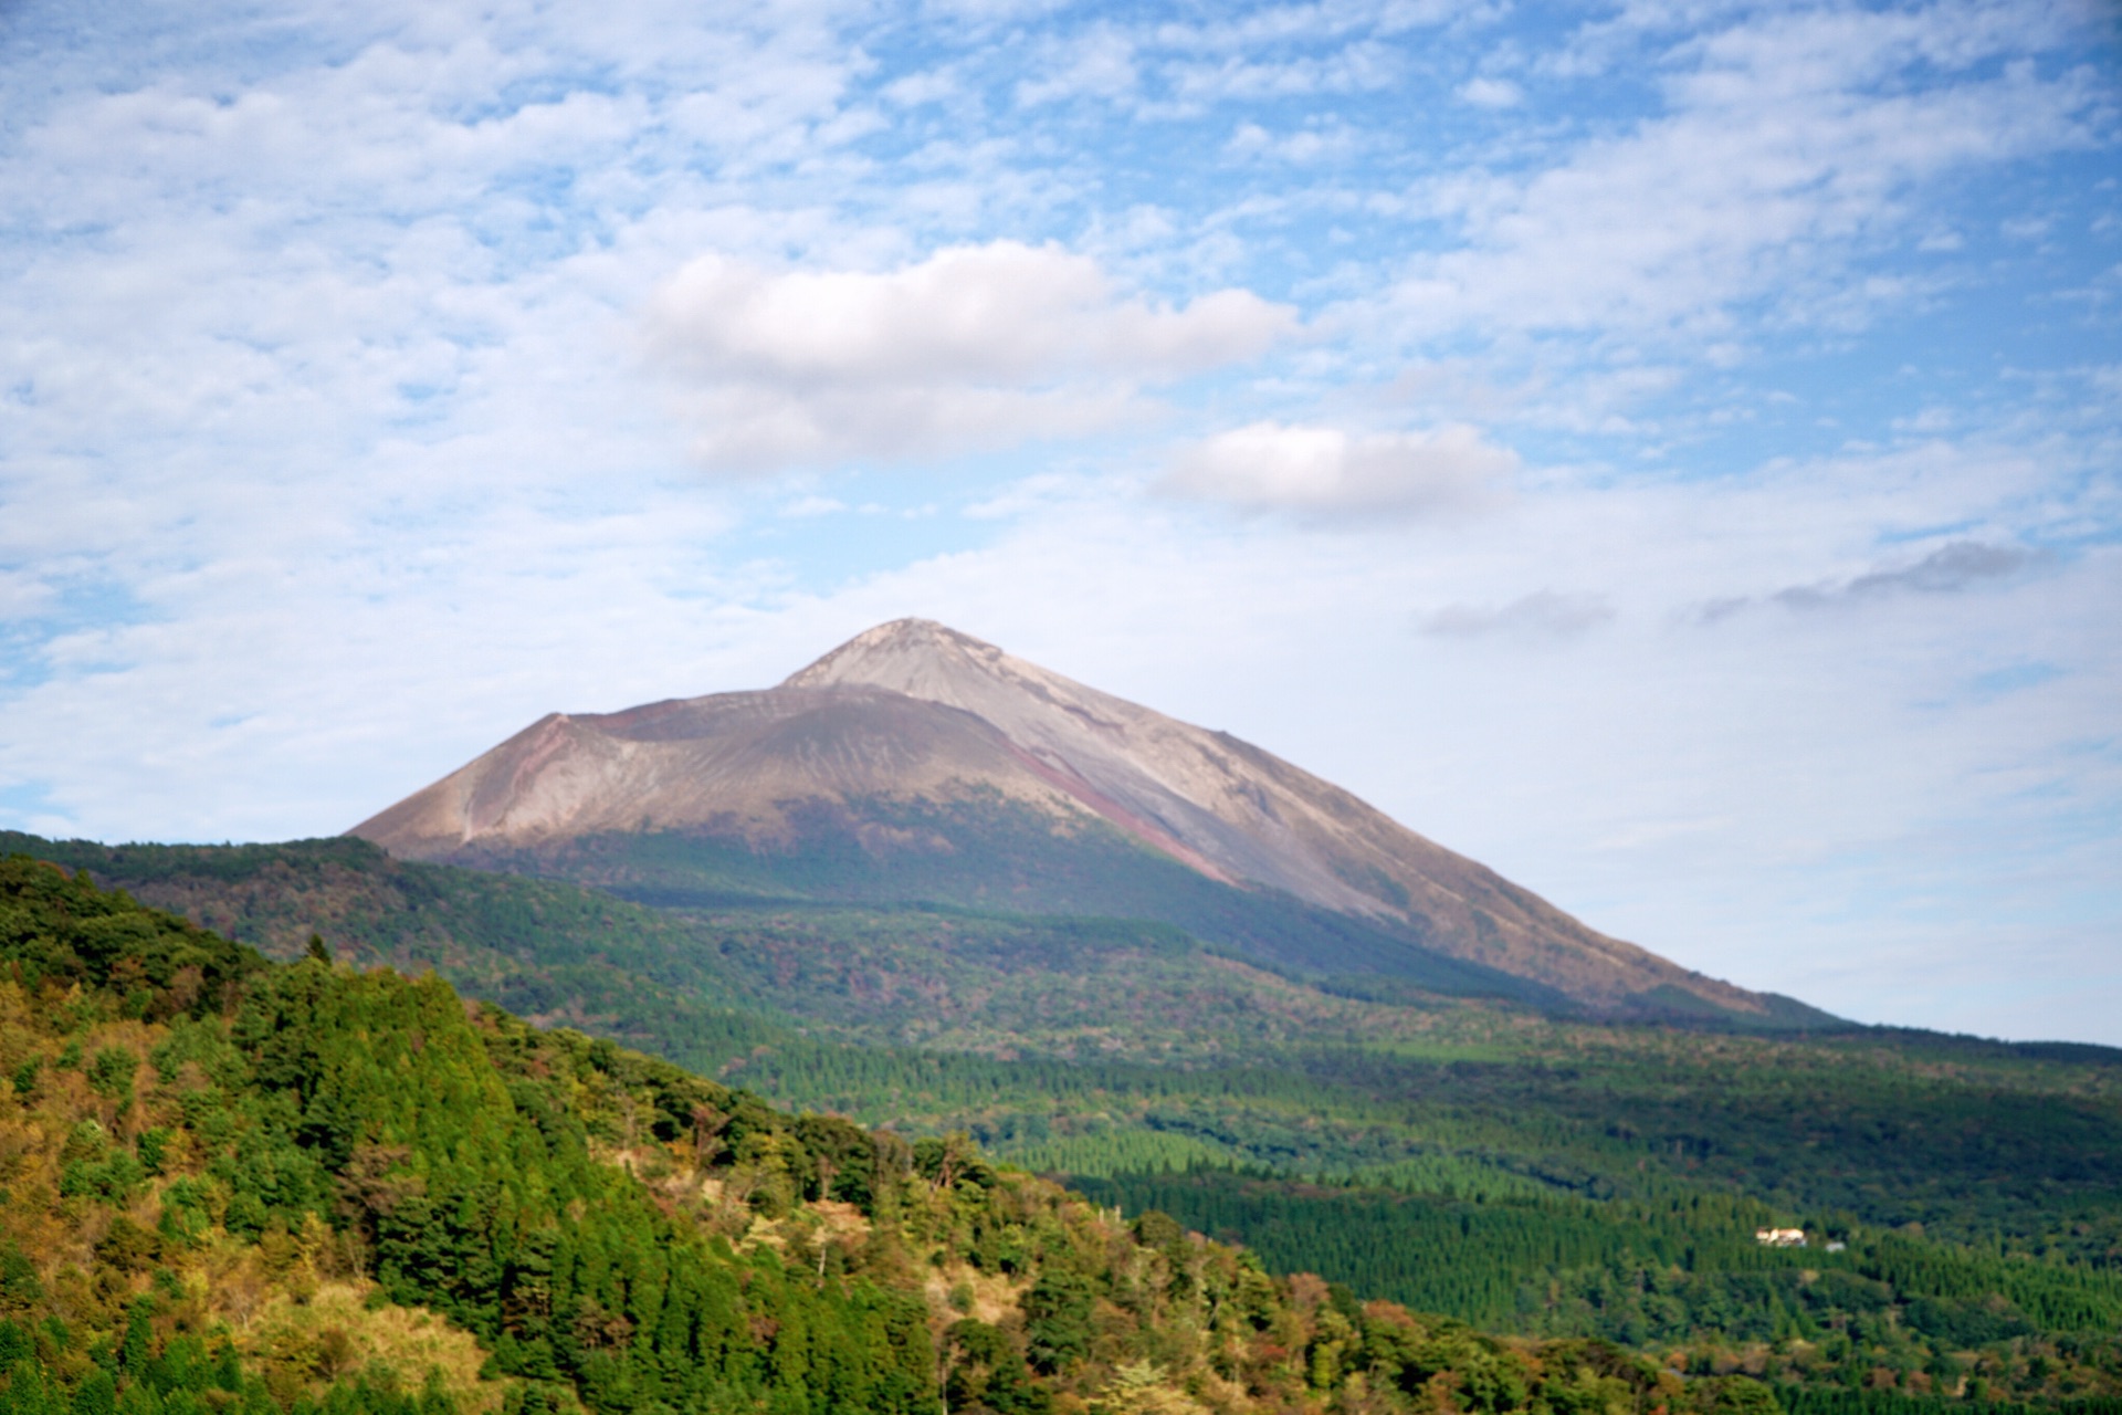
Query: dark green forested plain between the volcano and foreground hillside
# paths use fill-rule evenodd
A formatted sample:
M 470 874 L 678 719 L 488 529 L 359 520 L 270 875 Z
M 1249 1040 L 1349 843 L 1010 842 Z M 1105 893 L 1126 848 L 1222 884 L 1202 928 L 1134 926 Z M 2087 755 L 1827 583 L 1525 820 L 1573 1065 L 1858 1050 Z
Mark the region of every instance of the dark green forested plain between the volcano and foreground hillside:
M 102 846 L 72 849 L 83 859 Z M 195 912 L 223 908 L 282 950 L 306 938 L 306 919 L 325 919 L 335 948 L 356 933 L 367 948 L 418 938 L 448 976 L 503 997 L 575 986 L 592 1027 L 764 1095 L 912 1131 L 963 1126 L 1019 1163 L 1108 1177 L 1099 1192 L 1129 1207 L 1258 1241 L 1286 1269 L 1511 1330 L 1710 1362 L 1759 1364 L 1780 1347 L 1812 1351 L 1814 1377 L 1878 1364 L 1903 1387 L 1984 1379 L 2048 1398 L 2069 1390 L 2054 1370 L 2111 1360 L 2041 1353 L 2080 1341 L 2080 1296 L 2109 1311 L 2103 1273 L 2122 1266 L 2122 1069 L 2101 1048 L 1596 1027 L 1434 997 L 1392 1006 L 1263 974 L 1154 925 L 798 906 L 668 914 L 397 866 L 354 844 L 157 846 L 104 853 L 98 868 Z M 760 1006 L 781 1020 L 747 1012 Z M 1188 1165 L 1256 1173 L 1159 1177 Z M 1322 1173 L 1398 1192 L 1299 1182 Z M 1829 1266 L 1869 1264 L 1853 1271 L 1886 1296 L 1778 1288 L 1808 1258 L 1819 1266 L 1819 1250 L 1755 1281 L 1751 1228 L 1797 1220 L 1846 1235 L 1850 1256 Z M 1437 1237 L 1454 1224 L 1454 1260 L 1439 1266 Z M 1897 1286 L 1878 1266 L 1882 1243 L 1914 1245 L 1918 1277 Z M 2012 1264 L 2029 1262 L 2063 1296 L 2005 1296 L 1988 1317 L 1952 1307 L 1967 1283 L 2016 1292 L 2024 1275 Z

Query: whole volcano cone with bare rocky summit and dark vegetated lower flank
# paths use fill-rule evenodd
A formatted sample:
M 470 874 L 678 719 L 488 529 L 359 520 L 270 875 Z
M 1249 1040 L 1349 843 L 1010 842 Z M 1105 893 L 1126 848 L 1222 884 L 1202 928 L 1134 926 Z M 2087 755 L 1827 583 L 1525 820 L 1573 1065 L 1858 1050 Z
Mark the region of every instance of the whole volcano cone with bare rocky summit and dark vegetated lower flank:
M 1802 1023 L 1243 743 L 929 619 L 779 687 L 552 713 L 350 834 L 649 902 L 893 899 L 1163 919 L 1316 976 Z

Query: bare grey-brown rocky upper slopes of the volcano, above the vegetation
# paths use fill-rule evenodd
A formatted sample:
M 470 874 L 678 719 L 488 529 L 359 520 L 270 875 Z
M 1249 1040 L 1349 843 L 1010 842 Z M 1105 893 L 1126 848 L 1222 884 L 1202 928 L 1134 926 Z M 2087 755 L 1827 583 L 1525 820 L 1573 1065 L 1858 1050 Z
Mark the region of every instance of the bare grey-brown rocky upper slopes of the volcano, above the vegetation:
M 953 851 L 881 810 L 910 802 L 1002 802 L 1057 849 L 1114 827 L 1199 878 L 1600 1010 L 1782 1003 L 1606 938 L 1258 747 L 927 619 L 872 628 L 764 692 L 547 715 L 350 834 L 456 863 L 615 838 L 772 855 L 804 849 L 823 813 L 870 857 Z

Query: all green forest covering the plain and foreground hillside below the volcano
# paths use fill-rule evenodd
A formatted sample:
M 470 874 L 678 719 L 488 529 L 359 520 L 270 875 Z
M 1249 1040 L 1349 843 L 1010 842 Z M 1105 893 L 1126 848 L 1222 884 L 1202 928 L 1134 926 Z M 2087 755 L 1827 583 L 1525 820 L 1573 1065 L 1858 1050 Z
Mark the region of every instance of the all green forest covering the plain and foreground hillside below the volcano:
M 11 866 L 11 880 L 28 880 L 11 883 L 17 893 L 59 891 L 70 919 L 127 919 L 127 938 L 163 940 L 102 963 L 70 942 L 76 961 L 51 965 L 25 940 L 64 929 L 8 925 L 17 993 L 0 1063 L 17 1114 L 38 1116 L 51 1150 L 8 1160 L 8 1209 L 40 1192 L 13 1177 L 38 1165 L 53 1207 L 45 1228 L 17 1235 L 8 1220 L 8 1273 L 32 1273 L 21 1292 L 38 1296 L 6 1298 L 0 1341 L 42 1373 L 19 1385 L 45 1390 L 38 1400 L 79 1400 L 91 1366 L 115 1392 L 172 1396 L 180 1383 L 157 1387 L 125 1364 L 138 1309 L 151 1347 L 191 1351 L 182 1341 L 197 1339 L 185 1379 L 216 1370 L 219 1404 L 842 1409 L 819 1390 L 853 1390 L 853 1377 L 804 1375 L 796 1402 L 783 1381 L 794 1366 L 772 1364 L 781 1347 L 758 1324 L 745 1328 L 751 1345 L 717 1337 L 721 1364 L 700 1387 L 671 1385 L 668 1353 L 656 1375 L 634 1364 L 649 1360 L 637 1345 L 662 1349 L 668 1303 L 728 1311 L 753 1292 L 785 1303 L 802 1330 L 834 1332 L 834 1349 L 872 1351 L 866 1370 L 895 1368 L 891 1353 L 925 1332 L 929 1385 L 908 1409 L 1575 1409 L 1541 1383 L 1549 1362 L 1611 1366 L 1598 1379 L 1621 1385 L 1600 1409 L 1615 1411 L 2109 1411 L 2122 1396 L 2122 1056 L 2103 1048 L 1608 1025 L 1277 974 L 1167 923 L 938 906 L 658 910 L 407 866 L 359 842 L 8 844 L 276 957 L 303 959 L 312 931 L 337 957 L 272 965 L 49 866 Z M 30 919 L 47 906 L 13 908 Z M 204 953 L 157 963 L 155 948 L 178 948 L 170 940 Z M 174 982 L 193 967 L 197 982 Z M 427 967 L 437 976 L 403 978 Z M 62 980 L 74 1001 L 55 1001 Z M 494 1006 L 467 1012 L 446 982 Z M 314 1042 L 282 1059 L 282 1035 Z M 384 1035 L 397 1052 L 378 1052 L 371 1037 Z M 331 1050 L 331 1037 L 363 1042 Z M 138 1061 L 125 1086 L 123 1059 L 100 1061 L 112 1048 Z M 219 1110 L 191 1099 L 197 1078 L 225 1097 Z M 446 1120 L 422 1118 L 435 1101 Z M 1093 1205 L 999 1165 L 1065 1180 Z M 410 1175 L 418 1184 L 401 1192 Z M 55 1218 L 66 1205 L 74 1218 Z M 53 1235 L 68 1222 L 87 1235 L 104 1209 L 153 1256 L 106 1262 L 98 1235 L 53 1266 Z M 1763 1226 L 1797 1226 L 1808 1245 L 1763 1247 Z M 1311 1324 L 1301 1343 L 1294 1328 L 1256 1337 L 1299 1370 L 1294 1385 L 1146 1334 L 1214 1332 L 1216 1303 L 1235 1300 L 1180 1281 L 1171 1235 L 1184 1228 L 1250 1245 L 1258 1260 L 1214 1241 L 1186 1239 L 1184 1252 L 1216 1256 L 1229 1283 L 1265 1283 Z M 193 1233 L 206 1237 L 187 1247 Z M 509 1266 L 530 1252 L 511 1247 L 526 1233 L 560 1235 L 556 1256 L 535 1258 L 558 1269 L 511 1277 L 533 1271 Z M 1114 1243 L 1161 1252 L 1163 1286 L 1120 1300 Z M 267 1247 L 280 1256 L 229 1260 Z M 1069 1288 L 1065 1303 L 1091 1313 L 1074 1364 L 1040 1351 L 1076 1345 L 1033 1332 L 1065 1296 L 1033 1296 L 1046 1256 L 1063 1250 L 1053 1271 L 1091 1294 L 1080 1307 Z M 666 1292 L 643 1326 L 626 1303 L 649 1279 L 622 1254 L 651 1252 L 696 1254 L 688 1271 L 730 1264 L 741 1296 Z M 210 1273 L 248 1273 L 259 1305 L 223 1309 L 204 1294 L 244 1283 Z M 286 1273 L 314 1296 L 295 1303 Z M 624 1277 L 611 1288 L 592 1273 Z M 100 1315 L 53 1307 L 98 1283 Z M 857 1300 L 864 1283 L 874 1303 Z M 1411 1385 L 1405 1364 L 1381 1379 L 1367 1362 L 1390 1341 L 1373 1313 L 1401 1307 L 1379 1300 L 1439 1313 L 1392 1317 L 1422 1341 L 1473 1343 L 1464 1360 L 1439 1358 L 1451 1381 L 1494 1360 L 1519 1362 L 1519 1385 L 1468 1394 L 1432 1385 L 1437 1370 Z M 522 1303 L 543 1315 L 528 1320 Z M 1131 1313 L 1125 1341 L 1108 1307 Z M 622 1317 L 626 1343 L 598 1337 L 594 1313 Z M 1352 1345 L 1320 1358 L 1330 1317 L 1347 1326 L 1333 1341 Z M 316 1345 L 327 1330 L 342 1332 L 329 1351 Z M 685 1343 L 698 1364 L 705 1347 Z M 961 1368 L 974 1375 L 951 1375 Z M 1010 1404 L 1019 1385 L 1031 1404 Z M 891 1409 L 883 1385 L 862 1390 L 859 1409 Z

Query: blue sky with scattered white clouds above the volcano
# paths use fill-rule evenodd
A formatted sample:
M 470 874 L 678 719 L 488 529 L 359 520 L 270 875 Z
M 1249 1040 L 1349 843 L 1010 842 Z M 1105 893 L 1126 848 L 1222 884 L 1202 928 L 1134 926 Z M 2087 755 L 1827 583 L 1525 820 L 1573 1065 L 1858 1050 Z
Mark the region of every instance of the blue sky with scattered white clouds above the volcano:
M 929 615 L 1687 965 L 2122 1044 L 2097 4 L 0 4 L 0 823 Z

